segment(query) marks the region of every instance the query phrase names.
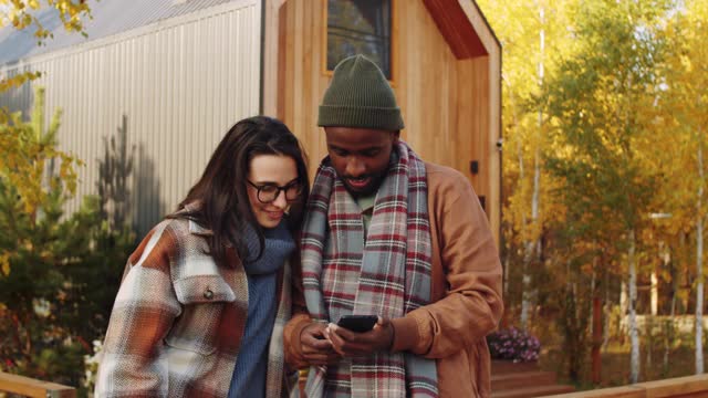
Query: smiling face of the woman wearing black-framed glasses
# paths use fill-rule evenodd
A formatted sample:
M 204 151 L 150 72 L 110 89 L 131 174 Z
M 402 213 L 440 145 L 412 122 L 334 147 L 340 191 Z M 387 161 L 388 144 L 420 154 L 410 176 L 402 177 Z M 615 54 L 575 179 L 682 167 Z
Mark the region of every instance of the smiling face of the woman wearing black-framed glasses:
M 298 166 L 293 158 L 282 155 L 253 157 L 246 189 L 253 216 L 261 227 L 278 227 L 293 197 L 296 199 L 298 181 Z

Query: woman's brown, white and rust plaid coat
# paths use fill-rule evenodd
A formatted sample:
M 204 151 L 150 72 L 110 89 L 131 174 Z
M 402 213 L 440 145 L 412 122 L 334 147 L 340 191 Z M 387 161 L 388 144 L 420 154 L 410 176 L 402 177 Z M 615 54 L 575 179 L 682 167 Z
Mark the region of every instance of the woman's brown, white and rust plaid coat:
M 96 397 L 226 397 L 246 327 L 248 284 L 232 248 L 227 266 L 205 254 L 208 230 L 166 220 L 128 259 L 106 334 Z M 279 275 L 267 396 L 284 388 L 282 328 L 290 264 Z

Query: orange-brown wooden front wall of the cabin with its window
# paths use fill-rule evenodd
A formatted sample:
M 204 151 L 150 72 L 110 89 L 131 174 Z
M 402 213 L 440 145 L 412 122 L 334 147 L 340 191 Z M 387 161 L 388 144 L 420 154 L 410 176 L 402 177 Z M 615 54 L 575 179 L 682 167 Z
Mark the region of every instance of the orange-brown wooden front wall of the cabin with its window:
M 316 119 L 332 69 L 364 53 L 396 92 L 403 138 L 424 159 L 469 178 L 499 243 L 501 48 L 477 4 L 272 0 L 266 7 L 263 111 L 302 137 L 311 169 L 326 154 Z M 342 50 L 347 40 L 353 45 Z

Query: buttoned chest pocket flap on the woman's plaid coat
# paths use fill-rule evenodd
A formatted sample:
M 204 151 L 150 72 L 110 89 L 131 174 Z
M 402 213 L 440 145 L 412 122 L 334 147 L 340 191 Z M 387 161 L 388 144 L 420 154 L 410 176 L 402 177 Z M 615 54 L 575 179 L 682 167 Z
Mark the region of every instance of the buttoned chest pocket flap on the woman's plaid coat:
M 181 304 L 233 302 L 236 294 L 220 275 L 195 275 L 175 281 Z

